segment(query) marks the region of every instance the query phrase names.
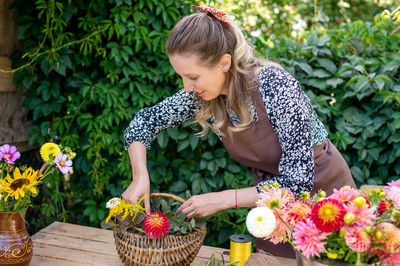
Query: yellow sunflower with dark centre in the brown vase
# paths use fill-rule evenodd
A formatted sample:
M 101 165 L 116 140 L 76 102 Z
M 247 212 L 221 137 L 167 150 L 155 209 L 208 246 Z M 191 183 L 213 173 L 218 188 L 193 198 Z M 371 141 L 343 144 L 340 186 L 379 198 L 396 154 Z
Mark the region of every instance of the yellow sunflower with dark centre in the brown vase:
M 21 175 L 19 168 L 16 167 L 13 177 L 7 174 L 5 179 L 0 179 L 1 191 L 7 193 L 7 196 L 4 200 L 7 201 L 8 197 L 10 196 L 18 200 L 20 197 L 25 197 L 25 194 L 28 191 L 34 195 L 37 195 L 38 191 L 36 189 L 36 185 L 40 182 L 37 180 L 37 173 L 38 171 L 34 171 L 31 167 L 29 167 Z

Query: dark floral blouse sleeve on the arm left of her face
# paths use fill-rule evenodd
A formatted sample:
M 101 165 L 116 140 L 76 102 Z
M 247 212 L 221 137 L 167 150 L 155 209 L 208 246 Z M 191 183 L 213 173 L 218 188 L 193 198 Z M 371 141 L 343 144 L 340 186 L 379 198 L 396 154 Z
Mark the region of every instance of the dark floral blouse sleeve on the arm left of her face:
M 181 89 L 152 107 L 140 110 L 125 129 L 125 149 L 132 142 L 141 142 L 149 150 L 161 130 L 176 127 L 195 117 L 200 103 L 193 92 Z

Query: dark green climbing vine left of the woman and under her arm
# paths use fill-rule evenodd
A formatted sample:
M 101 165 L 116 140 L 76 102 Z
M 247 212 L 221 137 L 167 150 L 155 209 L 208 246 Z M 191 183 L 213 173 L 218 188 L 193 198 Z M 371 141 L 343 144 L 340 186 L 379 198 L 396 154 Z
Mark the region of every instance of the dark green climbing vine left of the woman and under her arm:
M 121 195 L 131 180 L 124 129 L 141 108 L 181 86 L 164 47 L 169 30 L 189 13 L 189 3 L 16 0 L 13 6 L 25 45 L 14 54 L 15 67 L 29 64 L 19 60 L 27 52 L 35 59 L 15 75 L 20 88 L 29 88 L 30 142 L 59 139 L 78 154 L 69 181 L 55 180 L 43 188 L 48 197 L 37 199 L 42 208 L 34 209 L 32 230 L 62 218 L 98 227 L 106 216 L 105 202 Z M 184 197 L 187 191 L 194 195 L 239 188 L 251 179 L 216 136 L 199 139 L 188 124 L 158 136 L 148 153 L 148 169 L 152 191 Z M 209 233 L 206 243 L 227 241 L 234 232 L 232 213 L 210 218 L 209 230 L 221 231 Z M 244 217 L 242 213 L 242 221 Z

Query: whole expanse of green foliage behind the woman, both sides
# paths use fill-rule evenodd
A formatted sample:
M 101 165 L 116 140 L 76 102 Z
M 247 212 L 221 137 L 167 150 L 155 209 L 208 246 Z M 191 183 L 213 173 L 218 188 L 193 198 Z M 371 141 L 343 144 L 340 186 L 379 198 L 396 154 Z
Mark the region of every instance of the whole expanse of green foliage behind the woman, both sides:
M 24 46 L 12 59 L 14 67 L 27 65 L 15 82 L 28 88 L 30 142 L 52 139 L 78 153 L 74 174 L 52 177 L 35 198 L 31 233 L 54 220 L 99 227 L 105 202 L 130 183 L 124 129 L 141 108 L 181 86 L 164 46 L 173 25 L 198 3 L 13 2 Z M 279 62 L 302 83 L 357 185 L 400 178 L 399 1 L 206 4 L 228 11 L 261 57 Z M 188 197 L 249 186 L 249 170 L 227 155 L 215 135 L 197 138 L 192 127 L 165 130 L 153 142 L 151 190 Z M 24 156 L 38 160 L 37 151 Z M 227 247 L 231 234 L 246 233 L 246 214 L 241 209 L 211 216 L 205 243 Z

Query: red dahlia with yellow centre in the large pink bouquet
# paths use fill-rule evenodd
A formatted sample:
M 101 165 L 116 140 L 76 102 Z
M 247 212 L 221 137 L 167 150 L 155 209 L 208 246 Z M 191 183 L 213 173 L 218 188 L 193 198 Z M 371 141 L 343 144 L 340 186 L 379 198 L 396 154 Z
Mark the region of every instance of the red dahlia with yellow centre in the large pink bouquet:
M 336 199 L 317 202 L 311 211 L 311 220 L 322 232 L 336 232 L 344 224 L 344 206 Z

